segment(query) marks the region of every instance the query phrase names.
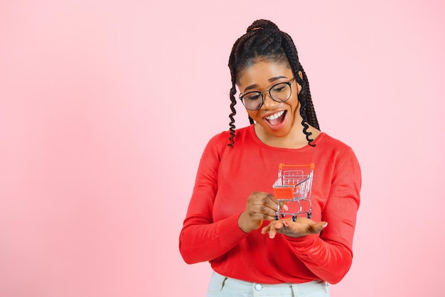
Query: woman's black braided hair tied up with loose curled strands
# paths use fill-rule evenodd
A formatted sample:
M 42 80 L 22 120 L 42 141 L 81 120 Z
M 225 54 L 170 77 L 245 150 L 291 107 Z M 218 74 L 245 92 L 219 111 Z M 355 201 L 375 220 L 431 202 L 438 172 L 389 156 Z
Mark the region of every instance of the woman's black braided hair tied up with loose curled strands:
M 296 78 L 297 83 L 301 85 L 301 91 L 298 95 L 300 102 L 300 115 L 303 120 L 303 132 L 306 135 L 309 145 L 313 144 L 311 139 L 311 132 L 308 132 L 309 125 L 316 127 L 318 130 L 317 116 L 313 108 L 311 90 L 309 89 L 309 81 L 304 72 L 301 63 L 299 62 L 298 51 L 294 41 L 292 41 L 289 34 L 280 31 L 278 26 L 267 21 L 260 19 L 254 21 L 252 25 L 247 28 L 247 33 L 237 39 L 232 47 L 232 53 L 229 58 L 230 75 L 232 77 L 232 88 L 230 88 L 230 137 L 229 146 L 233 147 L 235 144 L 235 105 L 237 100 L 235 94 L 237 93 L 236 85 L 239 83 L 239 78 L 245 69 L 252 66 L 257 61 L 272 61 L 275 63 L 287 63 L 291 68 L 292 73 Z M 303 78 L 300 78 L 299 71 L 303 74 Z M 251 124 L 254 123 L 252 118 L 249 117 Z M 309 124 L 309 125 L 308 125 Z

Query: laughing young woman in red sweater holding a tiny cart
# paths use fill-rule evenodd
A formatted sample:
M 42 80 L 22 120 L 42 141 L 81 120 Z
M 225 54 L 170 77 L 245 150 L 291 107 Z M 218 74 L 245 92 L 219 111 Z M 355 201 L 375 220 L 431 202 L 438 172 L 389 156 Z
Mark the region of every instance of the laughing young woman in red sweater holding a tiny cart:
M 352 263 L 360 166 L 350 147 L 321 132 L 291 37 L 271 21 L 247 28 L 229 60 L 230 130 L 205 147 L 179 249 L 210 261 L 208 296 L 329 296 Z M 237 100 L 251 125 L 235 130 Z M 314 163 L 311 219 L 277 219 L 279 163 Z

